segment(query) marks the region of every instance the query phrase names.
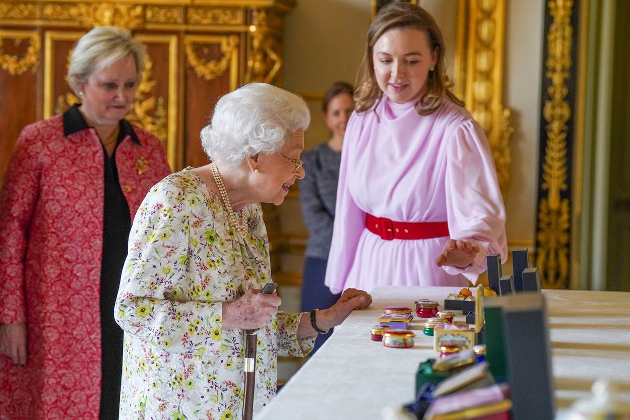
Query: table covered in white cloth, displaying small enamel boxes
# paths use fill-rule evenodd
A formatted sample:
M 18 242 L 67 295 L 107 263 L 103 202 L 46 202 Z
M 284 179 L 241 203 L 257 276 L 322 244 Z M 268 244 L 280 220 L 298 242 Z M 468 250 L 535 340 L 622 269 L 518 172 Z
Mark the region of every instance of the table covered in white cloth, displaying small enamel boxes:
M 382 419 L 384 405 L 414 399 L 421 361 L 435 358 L 433 337 L 422 334 L 415 318 L 415 346 L 391 349 L 370 340 L 370 327 L 382 308 L 415 308 L 418 298 L 444 303 L 457 292 L 449 287 L 379 286 L 367 310 L 355 311 L 337 327 L 256 420 Z M 630 293 L 544 290 L 553 348 L 558 407 L 588 395 L 597 378 L 621 382 L 630 400 Z M 463 317 L 455 317 L 463 320 Z

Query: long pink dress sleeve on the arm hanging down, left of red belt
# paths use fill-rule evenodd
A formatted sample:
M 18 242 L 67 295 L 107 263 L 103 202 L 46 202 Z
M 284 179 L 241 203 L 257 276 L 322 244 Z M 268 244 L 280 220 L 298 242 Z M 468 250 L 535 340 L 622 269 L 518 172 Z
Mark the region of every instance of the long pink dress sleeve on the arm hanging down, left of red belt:
M 348 120 L 343 139 L 333 240 L 328 254 L 324 281 L 333 294 L 343 291 L 348 273 L 357 255 L 358 240 L 365 228 L 365 212 L 357 206 L 348 190 L 348 162 L 352 160 L 353 150 L 361 136 L 363 119 L 362 115 L 354 112 Z

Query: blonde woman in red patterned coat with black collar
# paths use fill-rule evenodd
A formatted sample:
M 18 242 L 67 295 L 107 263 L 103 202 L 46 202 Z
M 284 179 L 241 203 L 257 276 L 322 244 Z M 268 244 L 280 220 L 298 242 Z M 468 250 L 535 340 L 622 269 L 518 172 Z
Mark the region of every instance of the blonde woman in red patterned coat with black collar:
M 0 201 L 0 420 L 118 418 L 131 220 L 171 172 L 159 139 L 124 119 L 144 54 L 129 31 L 88 32 L 68 71 L 81 105 L 16 144 Z

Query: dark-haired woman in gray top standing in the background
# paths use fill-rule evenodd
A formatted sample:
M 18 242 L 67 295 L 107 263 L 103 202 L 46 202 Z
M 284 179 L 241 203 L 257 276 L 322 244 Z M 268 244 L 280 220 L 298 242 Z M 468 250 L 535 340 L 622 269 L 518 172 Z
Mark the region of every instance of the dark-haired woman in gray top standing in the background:
M 353 94 L 352 85 L 344 82 L 337 82 L 328 88 L 322 110 L 331 137 L 304 153 L 303 157 L 308 176 L 300 181 L 300 204 L 304 223 L 309 230 L 302 277 L 302 311 L 305 312 L 328 308 L 340 296 L 331 293 L 324 285 L 324 276 L 333 237 L 341 146 L 355 105 Z M 318 335 L 313 352 L 330 334 L 332 332 Z

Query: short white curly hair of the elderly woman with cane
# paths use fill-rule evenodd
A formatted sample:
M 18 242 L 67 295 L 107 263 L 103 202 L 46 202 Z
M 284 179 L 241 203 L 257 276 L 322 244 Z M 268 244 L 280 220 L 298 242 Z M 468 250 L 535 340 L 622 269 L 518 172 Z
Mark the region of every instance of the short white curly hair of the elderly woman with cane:
M 249 83 L 222 96 L 201 131 L 210 160 L 238 165 L 245 156 L 271 155 L 285 138 L 306 130 L 309 107 L 301 96 L 267 83 Z

